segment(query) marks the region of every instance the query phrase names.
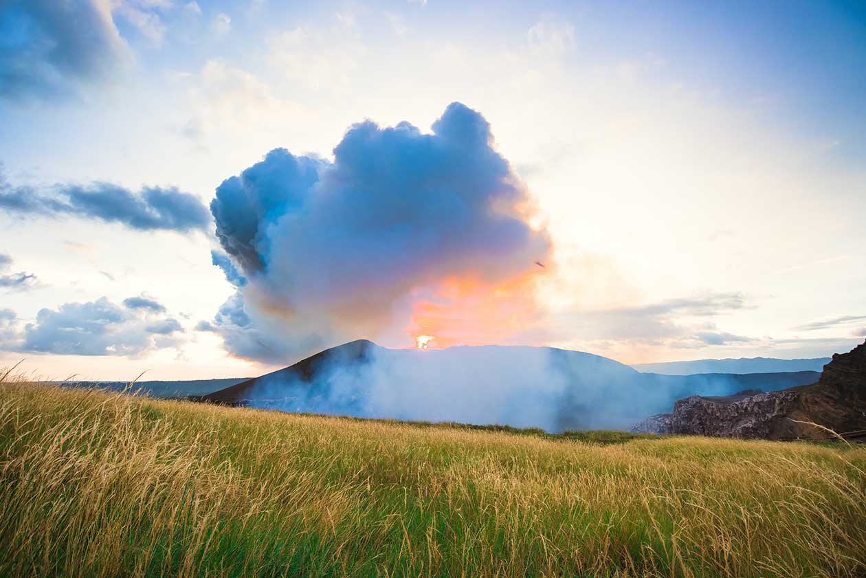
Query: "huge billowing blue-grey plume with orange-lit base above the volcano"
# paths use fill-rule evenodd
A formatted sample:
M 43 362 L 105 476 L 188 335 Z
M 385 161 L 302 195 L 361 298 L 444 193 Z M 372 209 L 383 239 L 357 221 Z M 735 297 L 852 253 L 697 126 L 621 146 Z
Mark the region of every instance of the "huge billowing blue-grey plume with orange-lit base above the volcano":
M 333 163 L 275 149 L 217 188 L 216 235 L 248 281 L 213 324 L 229 352 L 285 360 L 358 336 L 406 339 L 438 315 L 413 319 L 417 306 L 440 297 L 483 295 L 472 309 L 507 327 L 503 295 L 546 271 L 534 262 L 548 261 L 550 237 L 528 224 L 531 198 L 481 114 L 455 102 L 432 129 L 367 120 Z

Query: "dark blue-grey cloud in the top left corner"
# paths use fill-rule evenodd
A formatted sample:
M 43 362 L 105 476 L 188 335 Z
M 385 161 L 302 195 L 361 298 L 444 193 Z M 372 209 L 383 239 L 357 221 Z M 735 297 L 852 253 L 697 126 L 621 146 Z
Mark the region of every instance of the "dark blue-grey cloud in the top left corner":
M 0 97 L 45 99 L 112 75 L 127 58 L 107 0 L 0 6 Z

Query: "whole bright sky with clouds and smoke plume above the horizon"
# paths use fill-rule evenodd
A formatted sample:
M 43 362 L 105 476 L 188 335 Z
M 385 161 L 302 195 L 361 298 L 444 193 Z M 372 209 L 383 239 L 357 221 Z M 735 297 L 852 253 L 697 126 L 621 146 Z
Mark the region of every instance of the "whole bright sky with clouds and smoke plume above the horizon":
M 0 366 L 866 336 L 859 2 L 0 3 Z

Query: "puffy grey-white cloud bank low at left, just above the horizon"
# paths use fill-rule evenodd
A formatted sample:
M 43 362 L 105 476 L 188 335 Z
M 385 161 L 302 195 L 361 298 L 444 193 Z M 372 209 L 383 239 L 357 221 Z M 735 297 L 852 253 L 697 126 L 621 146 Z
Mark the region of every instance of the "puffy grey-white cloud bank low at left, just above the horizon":
M 120 307 L 107 297 L 43 308 L 23 330 L 8 309 L 0 317 L 0 347 L 19 352 L 136 357 L 156 347 L 177 347 L 183 331 L 174 319 Z

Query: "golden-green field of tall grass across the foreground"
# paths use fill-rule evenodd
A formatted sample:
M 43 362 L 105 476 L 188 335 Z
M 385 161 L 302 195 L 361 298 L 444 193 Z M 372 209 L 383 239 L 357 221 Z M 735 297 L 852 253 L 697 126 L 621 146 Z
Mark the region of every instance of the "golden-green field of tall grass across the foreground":
M 863 576 L 864 471 L 866 449 L 844 444 L 553 437 L 7 382 L 0 575 Z

